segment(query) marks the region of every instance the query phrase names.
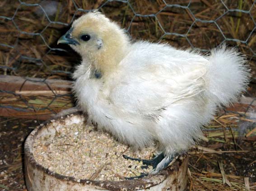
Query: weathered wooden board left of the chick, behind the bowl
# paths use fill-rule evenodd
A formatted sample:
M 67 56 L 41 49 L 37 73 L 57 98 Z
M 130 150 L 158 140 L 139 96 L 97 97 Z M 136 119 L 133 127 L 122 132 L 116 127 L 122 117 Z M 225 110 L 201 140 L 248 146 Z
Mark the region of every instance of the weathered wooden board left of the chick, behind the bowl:
M 19 107 L 19 103 L 21 103 L 23 99 L 40 99 L 40 96 L 44 96 L 44 98 L 51 96 L 49 97 L 51 100 L 55 97 L 55 94 L 71 94 L 71 84 L 72 81 L 69 80 L 44 80 L 41 78 L 0 75 L 0 116 L 47 120 L 55 115 L 51 110 L 33 109 L 33 104 L 31 103 L 27 103 L 28 106 L 32 106 L 30 108 L 24 106 Z M 67 99 L 67 103 L 72 102 L 71 96 L 67 97 Z M 45 99 L 41 100 L 45 102 Z M 65 108 L 67 107 L 58 107 L 54 108 L 53 111 L 58 113 Z

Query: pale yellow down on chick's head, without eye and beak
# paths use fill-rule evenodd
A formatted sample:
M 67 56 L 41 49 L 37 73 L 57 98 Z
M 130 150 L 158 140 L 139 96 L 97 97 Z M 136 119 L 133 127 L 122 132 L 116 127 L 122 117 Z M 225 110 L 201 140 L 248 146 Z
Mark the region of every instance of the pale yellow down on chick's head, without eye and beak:
M 84 14 L 73 22 L 72 27 L 72 36 L 77 40 L 79 36 L 89 34 L 102 41 L 101 49 L 93 49 L 93 44 L 83 43 L 81 40 L 79 45 L 71 46 L 102 73 L 112 71 L 125 56 L 127 45 L 130 43 L 128 36 L 121 27 L 102 13 Z

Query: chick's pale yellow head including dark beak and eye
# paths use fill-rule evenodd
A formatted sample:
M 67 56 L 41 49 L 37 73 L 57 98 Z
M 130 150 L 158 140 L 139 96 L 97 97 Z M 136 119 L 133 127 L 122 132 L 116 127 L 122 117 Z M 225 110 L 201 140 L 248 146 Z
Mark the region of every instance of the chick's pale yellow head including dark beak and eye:
M 125 31 L 105 15 L 90 12 L 75 20 L 59 43 L 69 44 L 83 59 L 102 67 L 120 62 L 129 39 Z

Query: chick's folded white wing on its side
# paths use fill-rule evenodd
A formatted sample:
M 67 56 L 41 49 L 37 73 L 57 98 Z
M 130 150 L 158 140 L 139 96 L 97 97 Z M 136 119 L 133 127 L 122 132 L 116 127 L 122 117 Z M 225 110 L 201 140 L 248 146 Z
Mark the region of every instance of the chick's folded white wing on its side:
M 116 107 L 157 115 L 172 103 L 205 90 L 204 57 L 184 51 L 180 54 L 162 44 L 143 45 L 127 54 L 112 79 L 109 98 Z

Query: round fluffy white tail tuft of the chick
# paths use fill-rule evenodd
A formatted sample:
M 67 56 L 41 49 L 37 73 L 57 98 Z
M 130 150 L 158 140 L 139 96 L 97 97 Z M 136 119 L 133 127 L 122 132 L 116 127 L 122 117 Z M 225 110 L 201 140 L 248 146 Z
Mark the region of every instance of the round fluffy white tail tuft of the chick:
M 247 89 L 251 75 L 245 63 L 245 57 L 234 48 L 223 45 L 212 50 L 205 80 L 208 82 L 208 93 L 216 99 L 215 103 L 227 106 Z

